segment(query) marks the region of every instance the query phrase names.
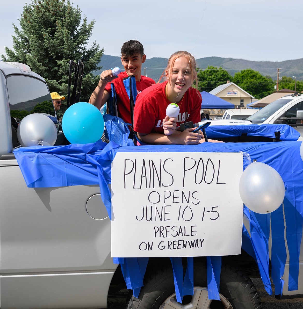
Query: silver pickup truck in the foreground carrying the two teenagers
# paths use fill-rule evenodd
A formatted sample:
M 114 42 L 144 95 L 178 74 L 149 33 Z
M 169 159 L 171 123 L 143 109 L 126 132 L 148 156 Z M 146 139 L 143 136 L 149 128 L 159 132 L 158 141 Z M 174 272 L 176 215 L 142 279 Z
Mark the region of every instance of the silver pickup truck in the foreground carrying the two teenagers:
M 45 80 L 27 65 L 0 62 L 0 307 L 107 308 L 108 297 L 129 286 L 124 282 L 128 275 L 122 273 L 120 265 L 114 264 L 111 257 L 111 220 L 101 199 L 100 187 L 98 182 L 61 186 L 59 179 L 58 187 L 27 186 L 13 150 L 21 147 L 17 138 L 16 119 L 22 120 L 33 112 L 46 113 L 51 117 L 57 126 L 57 145 L 63 145 L 65 139 L 59 130 Z M 271 153 L 276 152 L 276 145 L 280 145 L 280 148 L 284 145 L 282 148 L 287 154 L 290 146 L 300 148 L 297 143 L 267 144 L 272 147 Z M 231 144 L 230 147 L 235 147 Z M 234 144 L 241 146 L 241 143 Z M 243 148 L 245 151 L 247 146 Z M 259 154 L 261 160 L 261 150 Z M 56 164 L 56 168 L 62 165 L 64 178 L 68 164 Z M 299 169 L 302 169 L 301 165 Z M 297 174 L 299 177 L 302 171 Z M 258 230 L 255 225 L 252 227 L 251 220 L 250 214 L 246 212 L 243 215 L 243 237 L 253 237 Z M 300 222 L 297 224 L 300 230 Z M 300 235 L 299 231 L 297 234 Z M 285 246 L 283 235 L 279 236 L 279 241 Z M 267 259 L 269 255 L 271 260 L 271 238 L 267 239 L 265 235 L 262 239 L 265 241 L 263 255 Z M 273 243 L 277 245 L 276 239 Z M 303 297 L 303 248 L 301 241 L 297 244 L 297 281 L 293 278 L 293 271 L 289 271 L 293 267 L 293 260 L 292 252 L 288 252 L 284 265 L 280 267 L 280 275 L 275 278 L 275 282 L 285 282 L 280 290 L 276 289 L 277 298 Z M 130 291 L 125 307 L 261 308 L 259 294 L 250 280 L 250 277 L 260 276 L 260 264 L 254 255 L 248 247 L 242 246 L 240 255 L 223 257 L 220 301 L 208 299 L 206 257 L 196 257 L 194 294 L 183 298 L 183 304 L 176 302 L 169 258 L 150 258 L 138 298 L 132 296 Z M 273 259 L 276 260 L 276 257 Z M 265 271 L 268 277 L 270 260 L 267 261 L 268 271 Z M 292 277 L 288 277 L 289 274 Z M 267 281 L 264 277 L 262 279 L 268 284 L 268 278 Z M 288 281 L 296 281 L 297 286 L 292 284 L 289 289 Z

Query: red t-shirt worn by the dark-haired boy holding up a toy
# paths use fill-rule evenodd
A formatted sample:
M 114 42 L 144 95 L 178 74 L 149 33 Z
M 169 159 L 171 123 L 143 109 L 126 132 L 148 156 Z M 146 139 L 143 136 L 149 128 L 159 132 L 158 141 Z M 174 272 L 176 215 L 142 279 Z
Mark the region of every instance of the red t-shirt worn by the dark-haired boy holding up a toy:
M 117 94 L 117 109 L 118 117 L 122 118 L 127 123 L 132 123 L 130 118 L 129 98 L 124 87 L 123 79 L 128 77 L 127 73 L 121 72 L 112 83 L 114 83 Z M 136 81 L 137 93 L 140 93 L 145 88 L 154 85 L 155 81 L 152 78 L 141 76 L 141 81 Z M 111 83 L 105 86 L 105 90 L 111 93 Z

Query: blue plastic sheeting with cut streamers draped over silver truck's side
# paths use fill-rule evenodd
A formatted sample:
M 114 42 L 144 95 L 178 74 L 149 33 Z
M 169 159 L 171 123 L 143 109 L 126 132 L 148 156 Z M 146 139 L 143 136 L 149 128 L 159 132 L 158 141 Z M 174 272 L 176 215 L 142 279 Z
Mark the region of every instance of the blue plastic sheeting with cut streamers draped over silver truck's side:
M 58 187 L 66 185 L 97 184 L 107 211 L 111 214 L 111 196 L 107 184 L 111 183 L 111 163 L 117 152 L 238 152 L 250 155 L 251 159 L 266 163 L 281 175 L 285 188 L 284 208 L 282 205 L 272 214 L 254 214 L 244 207 L 250 221 L 250 229 L 243 229 L 244 248 L 258 264 L 264 286 L 271 294 L 269 281 L 268 239 L 271 229 L 271 273 L 276 294 L 281 294 L 284 281 L 286 252 L 289 252 L 288 290 L 298 286 L 298 265 L 302 238 L 303 218 L 303 162 L 300 156 L 301 142 L 254 142 L 254 143 L 202 143 L 193 146 L 158 145 L 127 146 L 115 143 L 68 146 L 34 146 L 14 150 L 15 157 L 26 180 L 27 186 Z M 244 168 L 249 164 L 244 156 Z M 285 217 L 285 219 L 284 219 Z M 285 220 L 285 236 L 284 236 Z M 287 240 L 287 241 L 286 241 Z M 125 281 L 138 296 L 146 269 L 146 260 L 116 259 L 121 263 Z M 188 271 L 183 276 L 180 261 L 172 260 L 176 294 L 181 301 L 183 293 L 192 291 L 192 263 L 189 257 Z M 218 273 L 220 260 L 208 259 L 208 289 L 210 298 L 217 299 L 219 291 Z M 182 270 L 182 273 L 181 273 Z M 181 282 L 182 281 L 182 282 Z M 177 293 L 178 291 L 178 293 Z M 178 296 L 179 295 L 179 296 Z

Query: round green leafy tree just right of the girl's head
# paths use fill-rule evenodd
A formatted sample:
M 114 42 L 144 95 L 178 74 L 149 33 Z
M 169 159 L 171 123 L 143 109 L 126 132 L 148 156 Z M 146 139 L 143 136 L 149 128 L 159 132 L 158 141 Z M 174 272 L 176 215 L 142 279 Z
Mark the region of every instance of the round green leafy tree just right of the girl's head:
M 219 69 L 214 66 L 208 66 L 207 69 L 200 70 L 197 73 L 200 91 L 211 91 L 214 88 L 226 84 L 229 80 L 232 82 L 233 77 L 221 66 Z

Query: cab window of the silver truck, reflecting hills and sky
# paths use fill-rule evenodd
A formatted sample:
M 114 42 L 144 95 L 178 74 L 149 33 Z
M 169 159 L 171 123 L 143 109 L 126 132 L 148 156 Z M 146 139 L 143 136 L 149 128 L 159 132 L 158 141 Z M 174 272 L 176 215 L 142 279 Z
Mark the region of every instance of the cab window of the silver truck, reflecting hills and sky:
M 45 83 L 24 75 L 8 76 L 6 83 L 11 117 L 22 120 L 29 114 L 42 113 L 58 125 L 53 101 Z

